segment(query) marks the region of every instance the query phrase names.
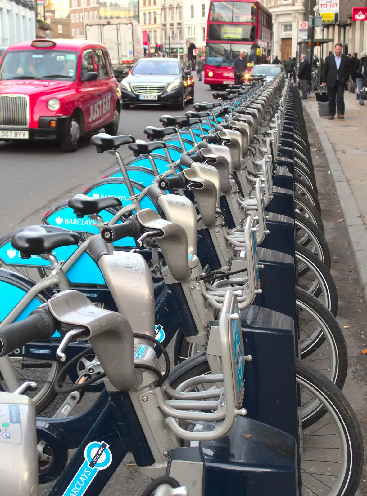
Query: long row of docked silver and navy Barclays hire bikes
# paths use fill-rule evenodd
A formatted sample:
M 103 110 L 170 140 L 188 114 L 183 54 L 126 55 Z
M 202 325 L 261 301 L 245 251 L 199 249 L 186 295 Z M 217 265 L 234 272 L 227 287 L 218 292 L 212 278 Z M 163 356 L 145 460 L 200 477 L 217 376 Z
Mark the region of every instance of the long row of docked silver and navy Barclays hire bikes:
M 356 493 L 299 94 L 280 74 L 213 97 L 147 141 L 94 135 L 118 168 L 0 239 L 2 495 L 98 495 L 128 452 L 186 488 L 159 494 Z

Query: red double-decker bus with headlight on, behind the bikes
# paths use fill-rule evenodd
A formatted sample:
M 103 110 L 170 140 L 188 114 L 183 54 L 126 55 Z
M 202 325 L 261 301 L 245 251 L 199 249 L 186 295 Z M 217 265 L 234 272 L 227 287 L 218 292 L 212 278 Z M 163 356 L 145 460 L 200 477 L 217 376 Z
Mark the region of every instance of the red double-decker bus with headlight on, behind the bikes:
M 272 14 L 258 1 L 211 0 L 204 83 L 212 89 L 234 81 L 233 61 L 242 51 L 249 69 L 271 55 Z

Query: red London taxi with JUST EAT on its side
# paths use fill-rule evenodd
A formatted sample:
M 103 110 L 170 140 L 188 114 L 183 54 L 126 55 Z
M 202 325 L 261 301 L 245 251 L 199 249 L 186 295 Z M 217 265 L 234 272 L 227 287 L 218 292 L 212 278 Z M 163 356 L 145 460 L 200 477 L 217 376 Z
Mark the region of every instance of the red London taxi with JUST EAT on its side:
M 73 152 L 88 131 L 115 135 L 120 110 L 120 87 L 99 43 L 38 39 L 1 57 L 0 141 L 59 141 Z

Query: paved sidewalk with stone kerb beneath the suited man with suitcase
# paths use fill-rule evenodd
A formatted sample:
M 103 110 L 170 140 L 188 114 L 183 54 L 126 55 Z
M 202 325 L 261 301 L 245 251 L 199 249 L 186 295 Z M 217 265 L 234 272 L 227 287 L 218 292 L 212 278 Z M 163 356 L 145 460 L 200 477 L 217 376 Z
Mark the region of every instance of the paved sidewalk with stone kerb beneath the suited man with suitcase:
M 319 117 L 313 93 L 303 104 L 325 151 L 367 306 L 367 101 L 360 106 L 348 92 L 344 100 L 344 120 Z

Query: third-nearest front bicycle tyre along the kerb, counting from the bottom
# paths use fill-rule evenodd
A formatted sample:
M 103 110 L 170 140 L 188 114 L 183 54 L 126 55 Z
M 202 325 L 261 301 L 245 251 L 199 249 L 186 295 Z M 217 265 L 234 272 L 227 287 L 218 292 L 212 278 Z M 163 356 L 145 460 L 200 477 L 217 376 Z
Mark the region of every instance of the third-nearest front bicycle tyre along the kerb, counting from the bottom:
M 318 298 L 323 293 L 323 304 L 331 313 L 336 316 L 338 313 L 338 292 L 330 271 L 326 265 L 308 248 L 304 248 L 298 243 L 295 244 L 295 258 L 297 266 L 297 285 L 305 284 L 302 276 L 306 276 L 312 270 L 318 278 L 318 286 L 313 285 L 307 289 L 307 293 Z M 303 264 L 303 267 L 300 264 Z M 317 283 L 316 283 L 317 284 Z M 301 289 L 303 289 L 301 287 Z

